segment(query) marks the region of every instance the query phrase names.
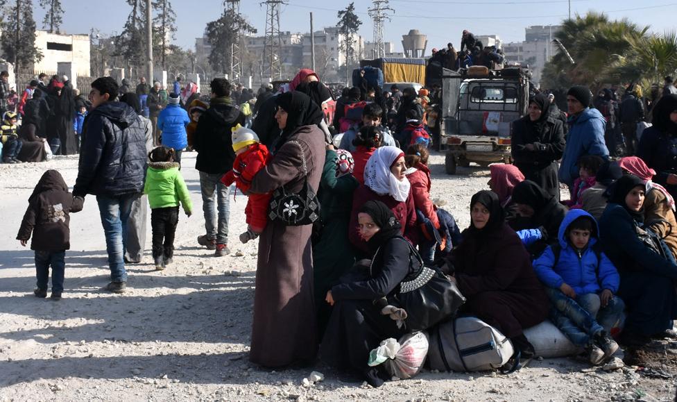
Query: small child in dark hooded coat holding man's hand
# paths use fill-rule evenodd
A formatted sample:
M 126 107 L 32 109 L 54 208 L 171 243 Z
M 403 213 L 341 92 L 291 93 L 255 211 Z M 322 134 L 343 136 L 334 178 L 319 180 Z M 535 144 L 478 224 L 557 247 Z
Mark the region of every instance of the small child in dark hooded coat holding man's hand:
M 37 297 L 47 296 L 49 267 L 52 267 L 52 300 L 60 300 L 65 276 L 66 250 L 70 249 L 70 212 L 83 209 L 85 200 L 74 197 L 68 192 L 68 186 L 58 171 L 48 170 L 35 186 L 28 198 L 28 209 L 17 240 L 22 246 L 31 238 L 31 250 L 35 250 L 35 270 L 37 287 L 33 291 Z

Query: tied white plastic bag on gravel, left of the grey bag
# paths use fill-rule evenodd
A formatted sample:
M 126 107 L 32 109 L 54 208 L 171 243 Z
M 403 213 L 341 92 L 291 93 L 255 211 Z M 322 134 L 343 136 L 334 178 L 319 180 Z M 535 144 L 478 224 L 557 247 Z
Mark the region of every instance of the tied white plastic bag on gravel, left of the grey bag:
M 428 335 L 425 332 L 407 334 L 398 343 L 400 349 L 395 357 L 388 358 L 383 365 L 388 374 L 405 380 L 421 371 L 428 355 Z

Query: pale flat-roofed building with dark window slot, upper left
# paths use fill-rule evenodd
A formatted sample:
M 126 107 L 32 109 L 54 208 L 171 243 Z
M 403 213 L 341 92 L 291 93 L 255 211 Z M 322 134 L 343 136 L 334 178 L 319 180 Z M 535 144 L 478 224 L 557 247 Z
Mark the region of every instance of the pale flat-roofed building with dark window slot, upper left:
M 42 60 L 35 63 L 35 72 L 57 71 L 59 62 L 70 62 L 78 76 L 89 76 L 89 35 L 59 35 L 47 31 L 35 33 L 35 47 L 42 52 Z M 47 49 L 48 43 L 70 46 L 70 50 Z

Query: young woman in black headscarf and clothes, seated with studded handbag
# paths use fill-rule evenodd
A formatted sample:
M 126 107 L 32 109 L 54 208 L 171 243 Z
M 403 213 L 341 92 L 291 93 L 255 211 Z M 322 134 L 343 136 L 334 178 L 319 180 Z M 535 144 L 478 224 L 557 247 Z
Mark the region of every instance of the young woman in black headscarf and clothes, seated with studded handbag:
M 406 179 L 405 179 L 406 180 Z M 371 266 L 344 277 L 347 283 L 335 285 L 326 301 L 334 306 L 320 346 L 327 364 L 348 369 L 379 387 L 390 378 L 379 367 L 367 365 L 369 352 L 389 337 L 398 339 L 408 333 L 406 324 L 382 315 L 376 299 L 397 292 L 408 274 L 420 269 L 417 256 L 402 237 L 400 221 L 381 201 L 367 201 L 358 210 L 359 235 L 366 242 Z

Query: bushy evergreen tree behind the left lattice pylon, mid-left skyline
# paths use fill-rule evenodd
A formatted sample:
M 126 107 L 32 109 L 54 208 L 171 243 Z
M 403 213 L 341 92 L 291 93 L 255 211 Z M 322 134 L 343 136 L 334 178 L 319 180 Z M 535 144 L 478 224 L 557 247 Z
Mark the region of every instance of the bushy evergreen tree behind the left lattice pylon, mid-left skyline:
M 212 45 L 212 51 L 209 53 L 209 65 L 212 66 L 214 71 L 228 71 L 231 45 L 235 40 L 240 40 L 242 33 L 256 33 L 256 28 L 251 26 L 241 15 L 234 14 L 232 10 L 224 10 L 219 19 L 207 23 L 205 35 L 207 42 Z M 240 49 L 243 49 L 243 47 L 240 46 Z

